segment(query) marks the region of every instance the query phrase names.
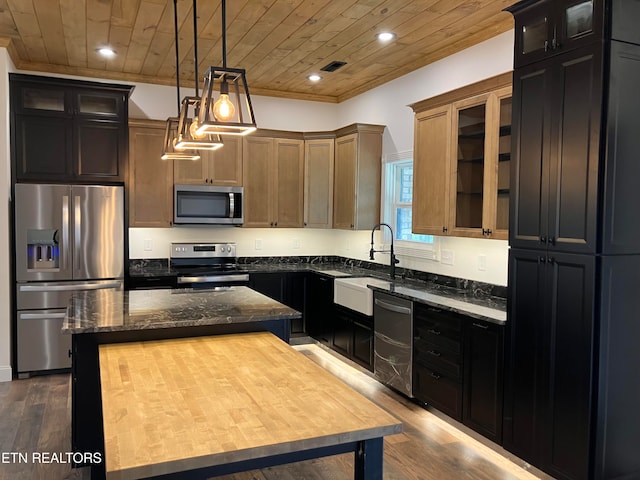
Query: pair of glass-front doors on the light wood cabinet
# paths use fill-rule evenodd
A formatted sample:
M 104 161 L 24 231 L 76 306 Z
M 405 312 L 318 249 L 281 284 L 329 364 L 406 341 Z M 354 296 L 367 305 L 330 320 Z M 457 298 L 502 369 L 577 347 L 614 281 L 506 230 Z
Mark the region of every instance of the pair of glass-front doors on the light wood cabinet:
M 453 104 L 450 234 L 506 239 L 511 87 Z

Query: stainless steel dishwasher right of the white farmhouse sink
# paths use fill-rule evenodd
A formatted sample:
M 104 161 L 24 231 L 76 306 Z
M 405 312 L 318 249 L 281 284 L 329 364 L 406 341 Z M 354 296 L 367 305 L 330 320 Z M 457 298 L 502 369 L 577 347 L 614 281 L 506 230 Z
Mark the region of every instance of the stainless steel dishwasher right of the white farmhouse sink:
M 413 397 L 413 303 L 374 293 L 373 373 L 382 383 Z

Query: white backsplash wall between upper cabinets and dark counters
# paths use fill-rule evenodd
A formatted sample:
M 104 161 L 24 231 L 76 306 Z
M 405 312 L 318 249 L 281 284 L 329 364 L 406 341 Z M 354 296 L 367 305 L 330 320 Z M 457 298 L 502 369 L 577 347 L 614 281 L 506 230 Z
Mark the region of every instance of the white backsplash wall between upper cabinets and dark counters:
M 376 249 L 381 247 L 380 238 L 376 231 Z M 314 228 L 130 228 L 129 257 L 168 258 L 171 242 L 235 242 L 239 257 L 338 255 L 369 260 L 371 232 Z M 507 284 L 506 241 L 436 237 L 434 247 L 435 260 L 400 256 L 399 266 L 493 285 Z M 443 251 L 452 259 L 452 265 L 442 263 Z M 389 255 L 376 253 L 374 261 L 388 265 Z

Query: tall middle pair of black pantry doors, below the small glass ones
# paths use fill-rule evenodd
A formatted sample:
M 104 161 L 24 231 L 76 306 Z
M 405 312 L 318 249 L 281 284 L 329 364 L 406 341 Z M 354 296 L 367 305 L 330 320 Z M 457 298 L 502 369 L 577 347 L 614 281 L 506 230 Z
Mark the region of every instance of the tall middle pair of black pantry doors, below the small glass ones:
M 514 71 L 513 247 L 596 251 L 601 70 L 583 48 Z

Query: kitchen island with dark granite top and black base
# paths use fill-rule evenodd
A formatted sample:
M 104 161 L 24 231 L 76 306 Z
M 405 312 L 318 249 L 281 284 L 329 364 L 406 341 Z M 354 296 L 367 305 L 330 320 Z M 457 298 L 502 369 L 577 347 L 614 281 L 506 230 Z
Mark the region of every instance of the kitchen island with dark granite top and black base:
M 74 294 L 63 324 L 72 335 L 73 451 L 103 449 L 99 345 L 261 331 L 288 343 L 300 316 L 248 287 Z

